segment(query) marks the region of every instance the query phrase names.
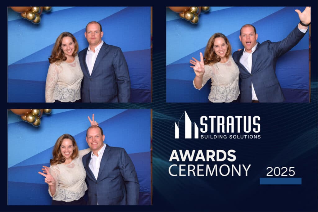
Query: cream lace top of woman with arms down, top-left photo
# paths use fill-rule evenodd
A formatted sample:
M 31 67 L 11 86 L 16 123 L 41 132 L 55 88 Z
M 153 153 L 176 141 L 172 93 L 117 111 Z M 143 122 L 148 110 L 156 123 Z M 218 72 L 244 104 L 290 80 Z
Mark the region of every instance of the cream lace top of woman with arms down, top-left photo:
M 72 63 L 51 63 L 46 77 L 45 102 L 55 102 L 55 99 L 61 102 L 79 100 L 83 76 L 78 55 Z

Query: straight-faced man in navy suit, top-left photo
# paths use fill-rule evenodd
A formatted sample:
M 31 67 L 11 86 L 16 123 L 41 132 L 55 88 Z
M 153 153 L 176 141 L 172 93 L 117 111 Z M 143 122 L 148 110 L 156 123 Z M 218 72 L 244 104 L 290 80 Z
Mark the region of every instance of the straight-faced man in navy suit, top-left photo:
M 96 21 L 86 25 L 84 34 L 89 46 L 79 52 L 82 102 L 129 102 L 130 77 L 121 48 L 102 41 L 104 32 Z

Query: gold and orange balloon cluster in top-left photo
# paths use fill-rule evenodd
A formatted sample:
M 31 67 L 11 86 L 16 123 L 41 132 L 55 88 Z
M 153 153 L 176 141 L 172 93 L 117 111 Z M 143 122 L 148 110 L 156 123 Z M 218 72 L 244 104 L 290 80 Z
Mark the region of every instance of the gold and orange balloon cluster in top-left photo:
M 43 10 L 49 12 L 52 7 L 11 7 L 11 9 L 21 13 L 21 17 L 31 21 L 33 24 L 39 24 Z

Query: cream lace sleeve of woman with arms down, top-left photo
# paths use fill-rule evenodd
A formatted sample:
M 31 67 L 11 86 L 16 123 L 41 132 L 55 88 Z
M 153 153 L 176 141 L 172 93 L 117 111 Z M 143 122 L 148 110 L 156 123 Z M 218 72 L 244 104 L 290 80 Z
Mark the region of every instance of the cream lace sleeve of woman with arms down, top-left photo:
M 54 102 L 53 92 L 59 79 L 59 68 L 55 63 L 50 64 L 45 83 L 45 102 Z

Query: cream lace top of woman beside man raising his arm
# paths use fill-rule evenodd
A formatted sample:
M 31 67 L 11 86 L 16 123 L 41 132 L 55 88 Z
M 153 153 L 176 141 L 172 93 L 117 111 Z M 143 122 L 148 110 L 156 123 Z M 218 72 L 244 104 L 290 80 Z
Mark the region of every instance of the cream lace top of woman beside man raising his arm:
M 211 78 L 211 92 L 209 94 L 211 102 L 232 102 L 238 98 L 240 93 L 239 67 L 232 56 L 225 63 L 218 62 L 212 65 L 204 65 L 204 70 L 202 87 Z M 194 80 L 193 85 L 198 89 Z

